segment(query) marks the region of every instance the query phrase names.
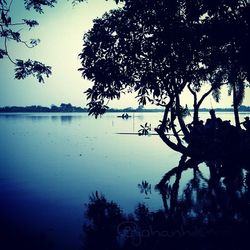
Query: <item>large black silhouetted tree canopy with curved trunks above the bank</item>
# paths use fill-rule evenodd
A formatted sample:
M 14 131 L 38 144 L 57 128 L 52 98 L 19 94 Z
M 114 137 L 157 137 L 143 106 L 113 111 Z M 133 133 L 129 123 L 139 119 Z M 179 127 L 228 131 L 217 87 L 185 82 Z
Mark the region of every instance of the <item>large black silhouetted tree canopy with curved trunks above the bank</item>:
M 156 131 L 172 149 L 187 153 L 176 131 L 178 124 L 189 137 L 181 94 L 192 93 L 196 124 L 204 99 L 212 94 L 219 101 L 221 86 L 228 85 L 239 127 L 238 107 L 249 80 L 247 1 L 122 2 L 123 8 L 96 19 L 84 36 L 80 71 L 94 83 L 86 91 L 90 114 L 97 117 L 109 100 L 135 92 L 139 104 L 165 108 Z M 206 83 L 210 87 L 201 95 Z M 165 134 L 169 130 L 174 140 Z

